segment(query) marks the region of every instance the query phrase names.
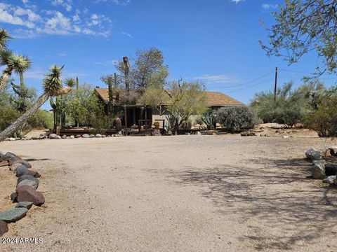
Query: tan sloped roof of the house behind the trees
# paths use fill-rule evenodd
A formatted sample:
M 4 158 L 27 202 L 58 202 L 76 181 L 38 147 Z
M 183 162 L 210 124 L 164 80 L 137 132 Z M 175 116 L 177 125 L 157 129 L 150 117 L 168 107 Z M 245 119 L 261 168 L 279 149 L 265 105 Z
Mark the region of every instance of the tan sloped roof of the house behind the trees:
M 109 102 L 109 90 L 107 88 L 95 88 L 98 97 L 102 99 L 105 103 Z M 237 101 L 236 99 L 229 97 L 222 92 L 209 92 L 206 93 L 206 104 L 207 106 L 239 106 L 244 105 L 242 102 Z M 166 104 L 167 105 L 167 104 Z

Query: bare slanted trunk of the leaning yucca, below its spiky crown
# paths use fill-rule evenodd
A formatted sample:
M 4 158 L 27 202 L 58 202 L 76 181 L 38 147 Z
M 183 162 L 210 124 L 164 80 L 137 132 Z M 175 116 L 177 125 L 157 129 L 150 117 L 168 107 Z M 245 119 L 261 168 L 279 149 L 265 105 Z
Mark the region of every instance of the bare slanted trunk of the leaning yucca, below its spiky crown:
M 37 102 L 30 108 L 26 113 L 24 113 L 20 118 L 15 120 L 14 123 L 9 125 L 3 132 L 0 133 L 0 141 L 4 141 L 6 137 L 10 136 L 15 132 L 15 130 L 18 129 L 18 127 L 21 127 L 22 125 L 25 125 L 27 120 L 34 115 L 38 111 L 38 109 L 44 105 L 44 103 L 48 100 L 49 94 L 44 93 L 42 94 L 39 99 L 37 99 Z

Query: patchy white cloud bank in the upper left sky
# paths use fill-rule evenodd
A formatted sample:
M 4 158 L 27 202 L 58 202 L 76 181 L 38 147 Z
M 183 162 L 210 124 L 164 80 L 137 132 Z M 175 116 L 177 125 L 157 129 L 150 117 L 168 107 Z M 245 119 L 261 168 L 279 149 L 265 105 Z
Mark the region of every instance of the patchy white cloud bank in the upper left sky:
M 51 3 L 53 6 L 63 6 L 72 1 L 53 0 Z M 90 13 L 88 9 L 77 9 L 68 14 L 65 10 L 62 13 L 62 10 L 39 10 L 35 7 L 0 3 L 0 23 L 24 27 L 11 32 L 15 38 L 33 38 L 44 34 L 110 36 L 112 20 L 105 15 Z

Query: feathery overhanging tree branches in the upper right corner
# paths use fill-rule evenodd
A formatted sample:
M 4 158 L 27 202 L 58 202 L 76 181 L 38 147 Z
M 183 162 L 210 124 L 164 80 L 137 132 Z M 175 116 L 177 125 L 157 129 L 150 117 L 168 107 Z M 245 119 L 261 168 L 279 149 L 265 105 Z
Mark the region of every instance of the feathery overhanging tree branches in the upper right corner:
M 322 59 L 316 76 L 337 72 L 337 1 L 285 0 L 275 25 L 268 32 L 269 45 L 260 41 L 267 55 L 283 56 L 289 64 L 308 52 Z

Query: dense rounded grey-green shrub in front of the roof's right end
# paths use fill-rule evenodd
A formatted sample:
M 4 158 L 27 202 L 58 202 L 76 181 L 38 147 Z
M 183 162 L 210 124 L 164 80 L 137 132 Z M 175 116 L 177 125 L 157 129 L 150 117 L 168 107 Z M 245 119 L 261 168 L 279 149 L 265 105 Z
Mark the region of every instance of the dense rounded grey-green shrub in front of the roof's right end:
M 217 122 L 229 132 L 239 132 L 254 127 L 256 113 L 247 106 L 225 106 L 216 111 Z

